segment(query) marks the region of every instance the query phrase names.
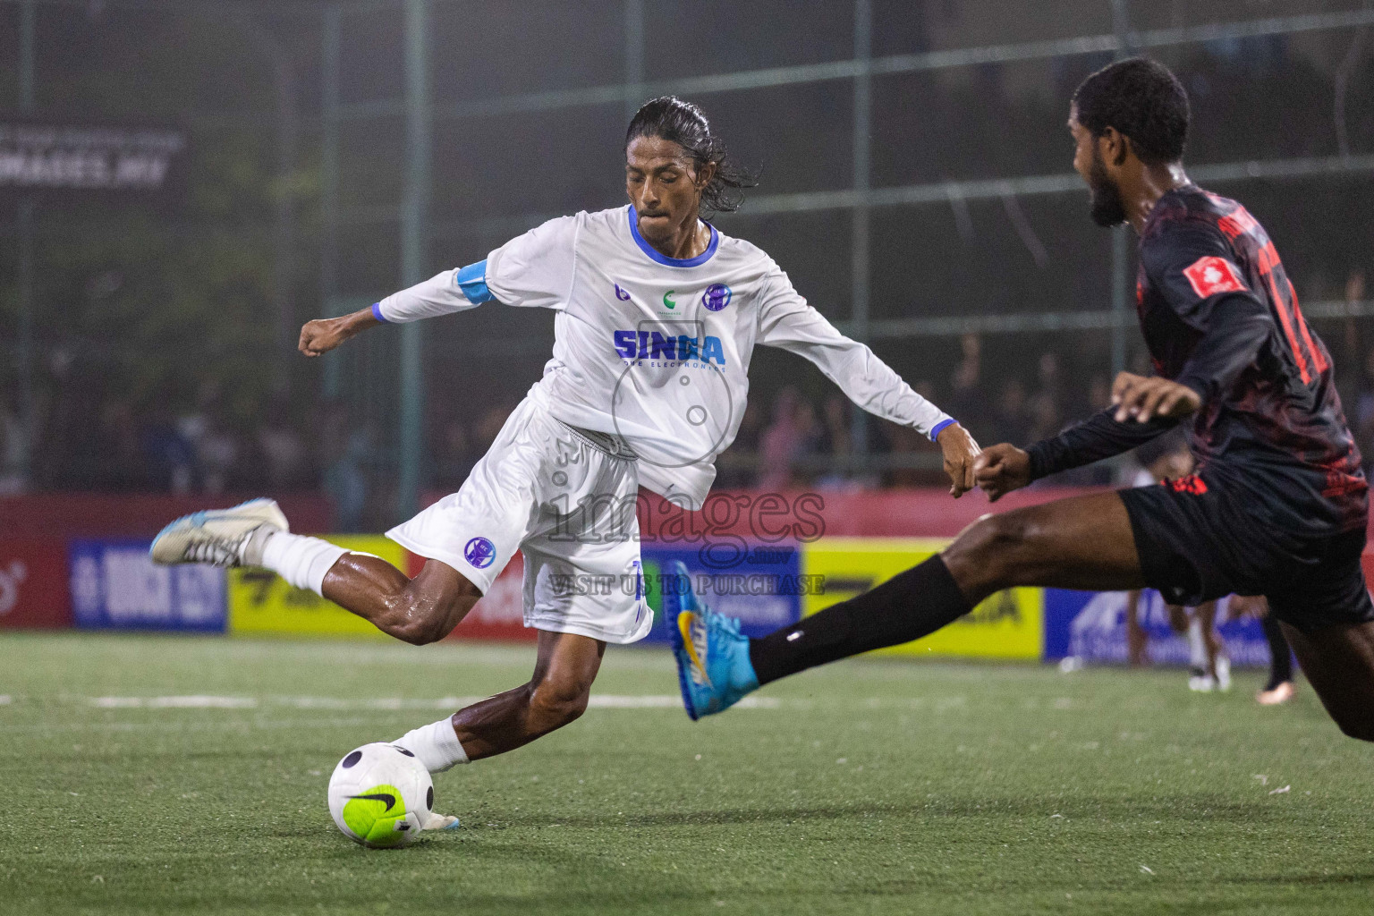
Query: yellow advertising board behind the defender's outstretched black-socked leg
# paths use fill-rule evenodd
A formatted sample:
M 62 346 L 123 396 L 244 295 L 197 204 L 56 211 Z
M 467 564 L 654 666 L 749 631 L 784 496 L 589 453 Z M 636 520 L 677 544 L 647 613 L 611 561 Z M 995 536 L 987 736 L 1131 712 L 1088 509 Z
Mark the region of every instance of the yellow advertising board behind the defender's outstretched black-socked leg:
M 804 595 L 802 615 L 830 607 L 911 569 L 944 549 L 943 538 L 826 537 L 801 552 L 804 577 L 819 575 L 820 593 Z M 819 589 L 818 589 L 819 591 Z M 878 650 L 881 655 L 1039 659 L 1044 640 L 1044 589 L 1014 588 L 930 636 Z

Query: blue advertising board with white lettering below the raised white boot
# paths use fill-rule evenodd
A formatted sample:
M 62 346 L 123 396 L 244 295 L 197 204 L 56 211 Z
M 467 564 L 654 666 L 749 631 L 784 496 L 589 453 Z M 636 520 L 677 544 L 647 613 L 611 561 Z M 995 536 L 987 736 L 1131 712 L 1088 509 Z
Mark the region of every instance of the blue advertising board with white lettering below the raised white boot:
M 224 632 L 221 569 L 157 566 L 137 540 L 70 541 L 67 563 L 78 628 Z

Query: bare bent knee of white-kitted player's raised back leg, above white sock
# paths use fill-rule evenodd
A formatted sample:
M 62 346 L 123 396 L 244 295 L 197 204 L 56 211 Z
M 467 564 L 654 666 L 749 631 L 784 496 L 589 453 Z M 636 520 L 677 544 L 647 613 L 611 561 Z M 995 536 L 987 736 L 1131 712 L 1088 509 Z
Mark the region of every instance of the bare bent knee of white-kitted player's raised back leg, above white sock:
M 387 636 L 425 645 L 458 626 L 482 593 L 447 563 L 427 560 L 411 578 L 370 553 L 344 553 L 324 574 L 322 593 Z

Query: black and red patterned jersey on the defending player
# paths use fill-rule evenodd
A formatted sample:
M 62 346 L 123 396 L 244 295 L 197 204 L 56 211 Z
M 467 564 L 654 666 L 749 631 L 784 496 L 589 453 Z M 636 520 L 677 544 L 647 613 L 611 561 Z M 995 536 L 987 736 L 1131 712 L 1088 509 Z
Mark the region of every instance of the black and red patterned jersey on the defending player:
M 1331 357 L 1243 206 L 1195 185 L 1160 198 L 1140 233 L 1136 310 L 1156 372 L 1202 396 L 1189 445 L 1204 481 L 1238 488 L 1281 530 L 1364 527 L 1369 485 Z

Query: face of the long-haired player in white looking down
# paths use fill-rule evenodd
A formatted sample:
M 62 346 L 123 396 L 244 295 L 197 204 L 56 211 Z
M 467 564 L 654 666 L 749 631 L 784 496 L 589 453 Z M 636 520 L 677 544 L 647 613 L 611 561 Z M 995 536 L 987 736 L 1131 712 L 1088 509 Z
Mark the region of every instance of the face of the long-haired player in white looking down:
M 705 184 L 692 157 L 672 140 L 635 137 L 625 150 L 625 194 L 646 242 L 668 242 L 694 225 Z

